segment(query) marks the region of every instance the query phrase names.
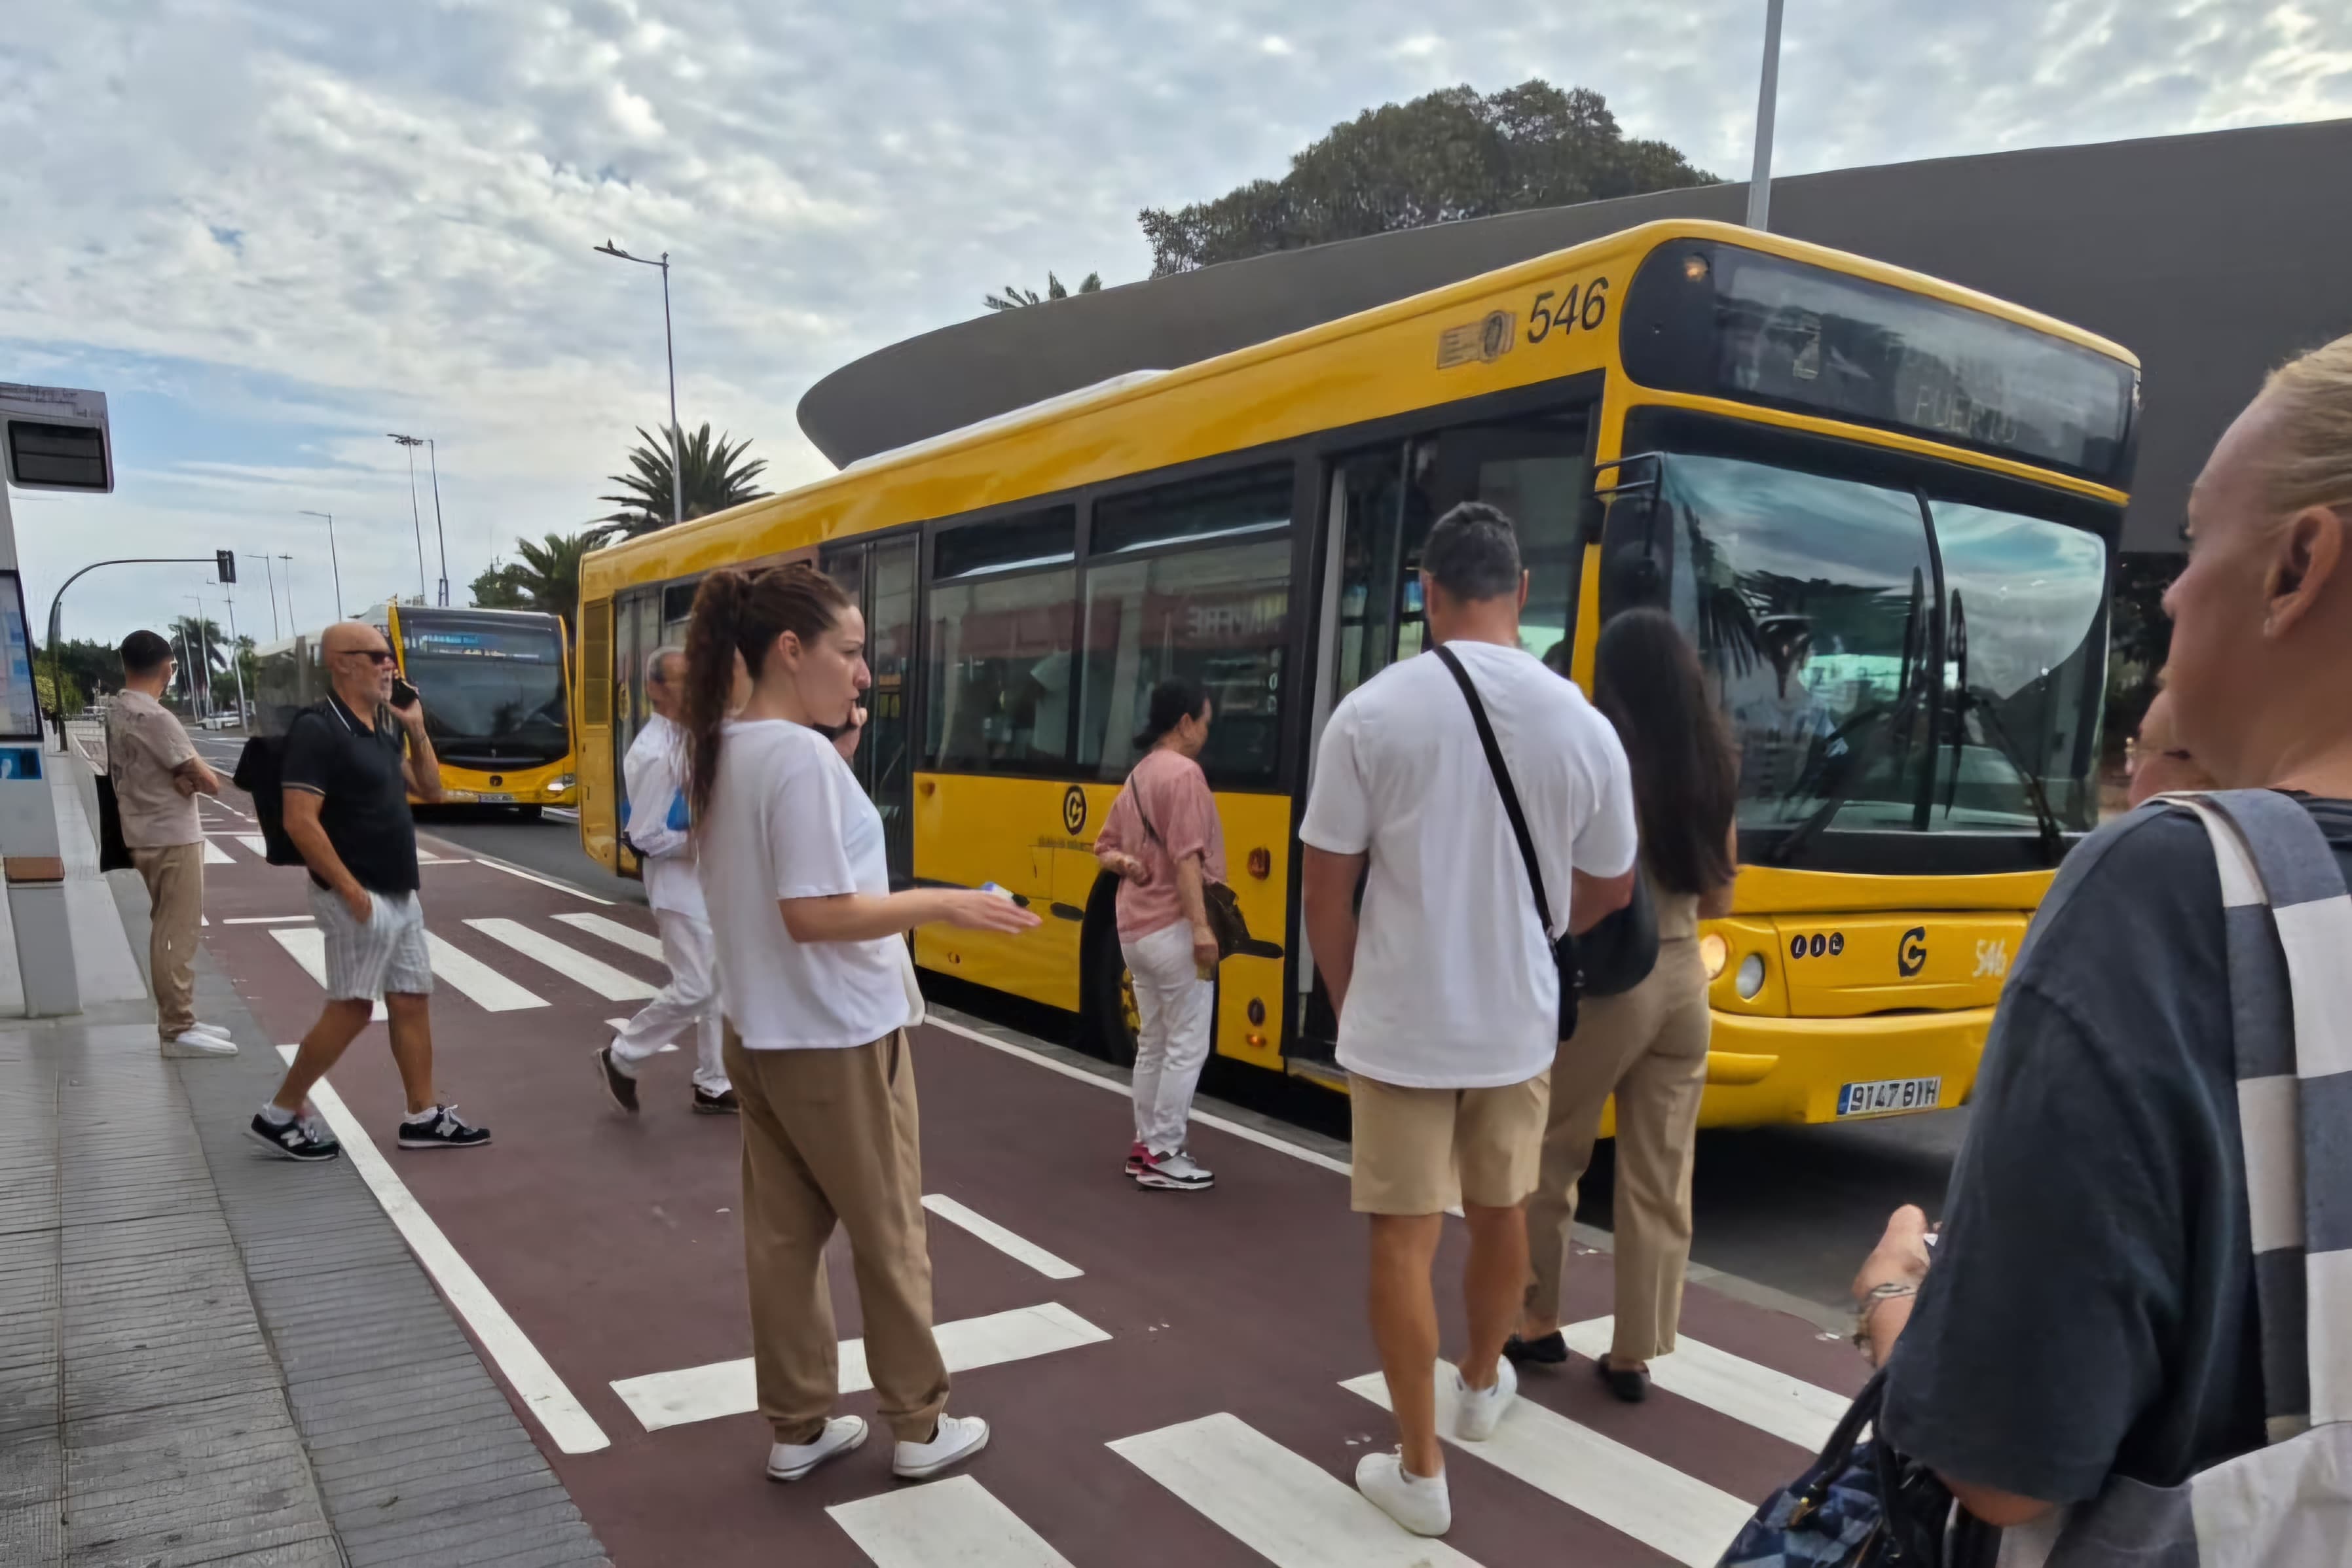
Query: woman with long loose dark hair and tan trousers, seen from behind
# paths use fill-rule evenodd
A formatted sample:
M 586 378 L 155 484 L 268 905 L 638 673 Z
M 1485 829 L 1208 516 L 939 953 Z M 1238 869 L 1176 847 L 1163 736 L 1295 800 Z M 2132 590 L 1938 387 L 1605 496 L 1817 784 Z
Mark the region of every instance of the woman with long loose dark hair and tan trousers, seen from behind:
M 1552 1060 L 1543 1180 L 1526 1201 L 1526 1312 L 1505 1352 L 1566 1361 L 1559 1272 L 1576 1182 L 1616 1095 L 1616 1331 L 1599 1373 L 1618 1399 L 1649 1394 L 1649 1361 L 1675 1349 L 1691 1262 L 1691 1147 L 1708 1081 L 1708 971 L 1698 922 L 1731 912 L 1738 872 L 1738 752 L 1672 616 L 1635 609 L 1602 628 L 1595 705 L 1632 764 L 1642 877 L 1658 912 L 1658 964 L 1616 997 L 1585 997 Z

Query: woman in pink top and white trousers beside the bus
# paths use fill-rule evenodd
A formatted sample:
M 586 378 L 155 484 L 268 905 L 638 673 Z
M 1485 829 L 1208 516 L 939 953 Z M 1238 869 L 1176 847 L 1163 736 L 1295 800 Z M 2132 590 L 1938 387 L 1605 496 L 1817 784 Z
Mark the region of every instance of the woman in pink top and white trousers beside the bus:
M 1216 1023 L 1216 936 L 1202 879 L 1225 879 L 1225 830 L 1197 762 L 1207 743 L 1209 693 L 1188 679 L 1152 686 L 1150 724 L 1136 736 L 1148 755 L 1094 839 L 1103 870 L 1120 879 L 1120 952 L 1143 1016 L 1127 1173 L 1138 1187 L 1171 1192 L 1202 1192 L 1216 1180 L 1183 1147 Z

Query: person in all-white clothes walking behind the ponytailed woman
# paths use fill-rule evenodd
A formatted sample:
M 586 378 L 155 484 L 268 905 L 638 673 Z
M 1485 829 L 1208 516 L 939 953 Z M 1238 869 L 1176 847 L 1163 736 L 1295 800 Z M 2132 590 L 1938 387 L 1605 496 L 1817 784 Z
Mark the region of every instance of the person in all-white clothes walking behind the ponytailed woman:
M 677 726 L 684 668 L 687 651 L 677 646 L 654 649 L 644 661 L 644 703 L 654 717 L 621 762 L 628 780 L 628 842 L 644 863 L 644 903 L 661 931 L 670 983 L 595 1060 L 612 1103 L 637 1114 L 637 1070 L 691 1025 L 694 1110 L 703 1117 L 731 1117 L 741 1105 L 727 1081 L 727 1063 L 720 1060 L 710 917 L 703 910 L 703 884 L 694 875 L 694 837 L 687 832 L 687 731 Z

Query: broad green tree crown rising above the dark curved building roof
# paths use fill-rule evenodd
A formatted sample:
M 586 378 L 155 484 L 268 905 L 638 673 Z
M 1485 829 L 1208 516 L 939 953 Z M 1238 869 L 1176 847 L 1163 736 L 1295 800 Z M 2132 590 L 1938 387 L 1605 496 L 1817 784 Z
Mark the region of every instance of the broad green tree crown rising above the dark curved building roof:
M 1543 80 L 1503 92 L 1442 87 L 1367 108 L 1211 202 L 1138 214 L 1152 277 L 1397 228 L 1712 186 L 1663 141 L 1628 139 L 1602 94 Z

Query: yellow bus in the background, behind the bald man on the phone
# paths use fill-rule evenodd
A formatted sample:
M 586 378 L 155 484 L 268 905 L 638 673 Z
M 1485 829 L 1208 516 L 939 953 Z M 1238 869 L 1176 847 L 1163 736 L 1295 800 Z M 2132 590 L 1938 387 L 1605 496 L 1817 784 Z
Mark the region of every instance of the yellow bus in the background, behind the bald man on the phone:
M 579 804 L 572 656 L 557 616 L 386 602 L 355 618 L 383 632 L 423 698 L 447 802 L 532 818 Z M 285 733 L 294 710 L 327 696 L 318 646 L 320 632 L 301 632 L 256 654 L 261 733 Z

